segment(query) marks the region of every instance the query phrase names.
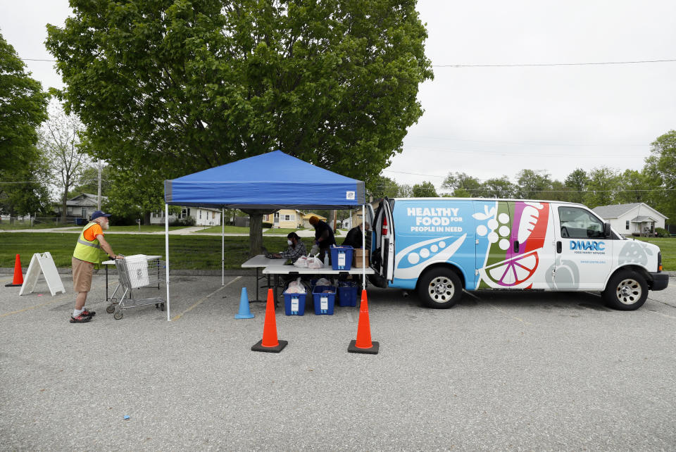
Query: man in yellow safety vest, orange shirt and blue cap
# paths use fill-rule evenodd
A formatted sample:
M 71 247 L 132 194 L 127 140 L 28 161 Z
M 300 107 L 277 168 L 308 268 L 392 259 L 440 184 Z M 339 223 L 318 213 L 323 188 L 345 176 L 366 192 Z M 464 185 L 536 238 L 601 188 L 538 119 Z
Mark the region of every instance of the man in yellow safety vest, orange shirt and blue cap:
M 108 218 L 110 213 L 95 211 L 92 213 L 92 220 L 84 226 L 80 237 L 75 244 L 73 251 L 73 289 L 77 296 L 75 297 L 75 310 L 70 317 L 70 323 L 85 323 L 92 320 L 96 314 L 93 310 L 84 309 L 84 302 L 87 301 L 87 294 L 92 290 L 92 272 L 94 265 L 99 265 L 106 254 L 111 259 L 123 259 L 113 253 L 110 244 L 104 239 L 104 230 L 108 229 Z

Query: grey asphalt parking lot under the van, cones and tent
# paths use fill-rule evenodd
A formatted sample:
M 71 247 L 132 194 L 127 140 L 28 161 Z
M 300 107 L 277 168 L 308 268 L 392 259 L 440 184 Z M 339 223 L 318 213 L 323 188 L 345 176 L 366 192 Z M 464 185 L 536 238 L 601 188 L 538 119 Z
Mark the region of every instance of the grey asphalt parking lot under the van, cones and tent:
M 41 280 L 20 297 L 0 275 L 1 450 L 676 448 L 674 278 L 633 312 L 542 291 L 431 310 L 369 288 L 377 355 L 346 351 L 358 308 L 287 317 L 282 304 L 289 345 L 251 351 L 265 303 L 234 320 L 249 276 L 173 277 L 168 322 L 154 306 L 113 320 L 97 275 L 84 325 L 68 322 L 61 279 L 66 294 Z

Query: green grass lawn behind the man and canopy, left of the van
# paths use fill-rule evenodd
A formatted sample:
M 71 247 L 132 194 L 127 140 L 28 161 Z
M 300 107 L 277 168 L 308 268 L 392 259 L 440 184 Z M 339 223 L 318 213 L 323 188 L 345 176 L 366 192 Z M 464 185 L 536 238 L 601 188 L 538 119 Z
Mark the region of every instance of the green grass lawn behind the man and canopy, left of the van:
M 70 268 L 77 237 L 61 232 L 4 232 L 0 234 L 0 267 L 13 268 L 20 254 L 23 271 L 33 253 L 49 251 L 59 268 Z M 107 237 L 115 253 L 165 256 L 164 236 L 115 234 Z M 181 270 L 220 270 L 220 237 L 174 235 L 169 238 L 171 268 Z M 270 252 L 287 249 L 285 237 L 263 237 Z M 166 256 L 165 256 L 166 257 Z M 225 237 L 225 268 L 238 269 L 249 258 L 249 237 Z

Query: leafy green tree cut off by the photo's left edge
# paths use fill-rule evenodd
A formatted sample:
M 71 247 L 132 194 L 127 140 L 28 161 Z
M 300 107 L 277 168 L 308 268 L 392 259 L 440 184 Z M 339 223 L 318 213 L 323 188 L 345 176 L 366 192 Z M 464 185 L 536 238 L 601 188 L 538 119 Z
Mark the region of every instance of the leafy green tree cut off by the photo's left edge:
M 48 96 L 0 34 L 0 171 L 3 177 L 39 161 L 37 127 L 46 120 Z

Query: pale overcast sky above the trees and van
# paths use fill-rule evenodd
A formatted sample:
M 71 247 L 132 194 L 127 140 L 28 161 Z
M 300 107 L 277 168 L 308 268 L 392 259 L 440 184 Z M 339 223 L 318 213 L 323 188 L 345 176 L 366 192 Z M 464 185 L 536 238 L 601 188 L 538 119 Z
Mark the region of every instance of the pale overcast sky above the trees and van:
M 52 59 L 45 24 L 67 0 L 0 0 L 0 32 L 21 58 Z M 425 114 L 383 172 L 400 184 L 449 172 L 480 180 L 521 169 L 563 181 L 575 168 L 640 169 L 650 143 L 676 129 L 676 61 L 518 67 L 440 67 L 676 60 L 676 1 L 419 0 L 434 80 Z M 43 87 L 54 63 L 26 61 Z

